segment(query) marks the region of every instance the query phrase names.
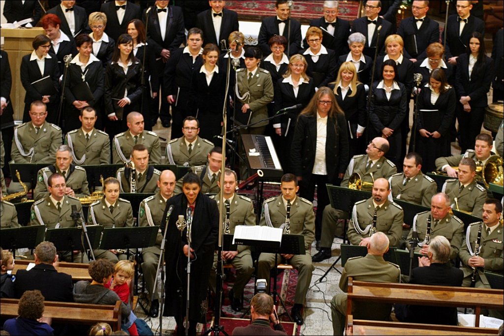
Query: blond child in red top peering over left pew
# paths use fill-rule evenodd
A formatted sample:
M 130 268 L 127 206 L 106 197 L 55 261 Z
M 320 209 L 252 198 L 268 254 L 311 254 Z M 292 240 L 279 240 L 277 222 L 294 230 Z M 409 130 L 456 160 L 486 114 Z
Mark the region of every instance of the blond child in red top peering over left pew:
M 119 260 L 114 266 L 114 277 L 109 283 L 104 284 L 104 287 L 114 291 L 122 302 L 128 304 L 130 302 L 130 283 L 134 274 L 135 268 L 133 267 L 133 262 L 129 260 Z M 128 326 L 130 335 L 138 335 L 138 330 L 135 325 L 136 319 L 137 316 L 135 316 L 132 311 L 130 314 L 131 326 Z

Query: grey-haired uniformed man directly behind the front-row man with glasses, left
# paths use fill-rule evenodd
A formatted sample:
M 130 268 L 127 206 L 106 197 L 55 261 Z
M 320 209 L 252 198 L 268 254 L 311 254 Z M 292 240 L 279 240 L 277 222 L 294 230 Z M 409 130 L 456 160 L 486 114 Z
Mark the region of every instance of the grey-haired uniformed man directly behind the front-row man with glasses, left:
M 58 173 L 65 177 L 65 194 L 72 197 L 89 196 L 88 180 L 86 170 L 72 163 L 72 150 L 67 145 L 61 145 L 56 150 L 56 163 L 42 168 L 37 174 L 37 185 L 35 187 L 35 199 L 42 199 L 49 195 L 47 180 L 49 176 Z

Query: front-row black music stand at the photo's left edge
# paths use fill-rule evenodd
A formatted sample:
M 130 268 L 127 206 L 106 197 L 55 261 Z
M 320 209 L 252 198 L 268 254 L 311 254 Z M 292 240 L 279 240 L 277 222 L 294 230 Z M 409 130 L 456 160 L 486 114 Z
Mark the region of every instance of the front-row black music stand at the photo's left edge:
M 33 249 L 44 241 L 44 231 L 45 226 L 43 225 L 2 229 L 0 245 L 2 245 L 2 248 L 5 250 L 13 250 L 15 259 L 17 248 Z

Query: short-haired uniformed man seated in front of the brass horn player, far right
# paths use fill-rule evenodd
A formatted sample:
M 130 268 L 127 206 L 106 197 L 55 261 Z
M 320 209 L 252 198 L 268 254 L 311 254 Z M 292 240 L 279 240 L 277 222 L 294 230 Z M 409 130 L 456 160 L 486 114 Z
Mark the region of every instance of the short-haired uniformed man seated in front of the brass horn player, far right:
M 474 160 L 463 158 L 459 163 L 458 179 L 446 180 L 442 191 L 453 200 L 452 208 L 470 212 L 473 216 L 481 218 L 487 192 L 484 187 L 476 183 L 475 175 Z

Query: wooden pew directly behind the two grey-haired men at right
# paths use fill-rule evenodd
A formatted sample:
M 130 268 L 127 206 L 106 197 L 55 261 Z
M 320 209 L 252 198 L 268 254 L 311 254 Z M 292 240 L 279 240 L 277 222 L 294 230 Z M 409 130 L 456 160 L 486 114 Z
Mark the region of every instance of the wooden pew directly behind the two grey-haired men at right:
M 474 308 L 479 326 L 481 308 L 504 308 L 504 290 L 374 283 L 348 277 L 347 316 L 352 315 L 354 301 Z

